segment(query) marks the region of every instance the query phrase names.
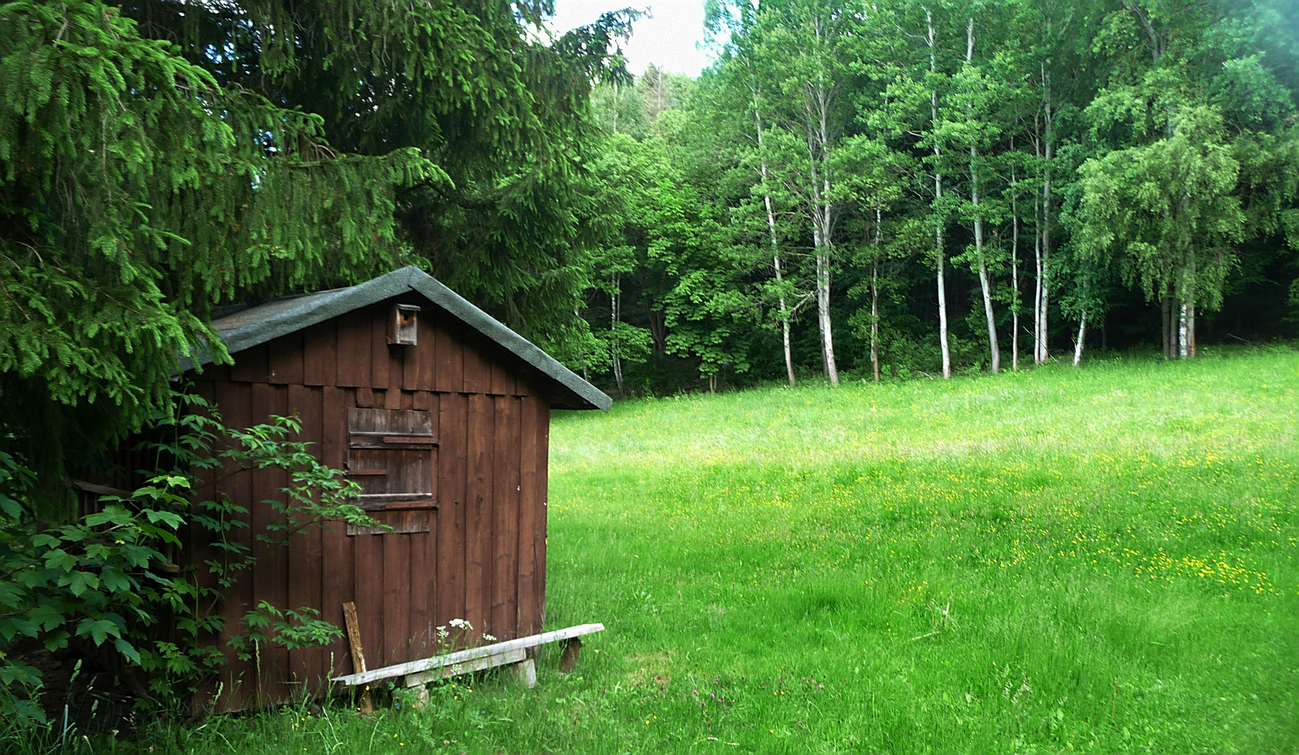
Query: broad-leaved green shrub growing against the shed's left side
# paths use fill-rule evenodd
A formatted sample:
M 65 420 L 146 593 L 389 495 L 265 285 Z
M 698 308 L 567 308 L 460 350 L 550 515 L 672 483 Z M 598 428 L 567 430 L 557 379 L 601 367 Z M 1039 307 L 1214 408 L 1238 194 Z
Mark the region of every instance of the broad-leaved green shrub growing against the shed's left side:
M 246 543 L 230 535 L 247 528 L 248 508 L 225 494 L 194 500 L 204 476 L 225 477 L 248 469 L 282 469 L 290 483 L 282 498 L 260 502 L 274 511 L 255 538 L 287 546 L 294 534 L 326 521 L 360 526 L 377 522 L 353 502 L 356 483 L 321 464 L 309 443 L 288 441 L 300 431 L 296 417 L 270 417 L 244 430 L 221 425 L 199 396 L 178 396 L 190 411 L 153 418 L 155 438 L 145 443 L 156 468 L 140 470 L 143 485 L 130 496 L 103 496 L 101 511 L 69 524 L 38 518 L 25 493 L 35 476 L 0 452 L 0 716 L 45 724 L 39 704 L 40 673 L 16 650 L 48 651 L 88 643 L 116 652 L 144 703 L 178 707 L 223 656 L 199 639 L 222 632 L 209 613 L 216 599 L 256 560 Z M 164 550 L 179 551 L 184 528 L 207 530 L 220 554 L 204 563 L 216 586 L 200 586 L 195 565 L 171 564 Z M 158 632 L 170 621 L 171 639 Z M 230 646 L 251 658 L 257 645 L 288 648 L 322 646 L 342 635 L 308 607 L 279 608 L 262 602 L 243 620 Z M 174 639 L 174 641 L 173 641 Z

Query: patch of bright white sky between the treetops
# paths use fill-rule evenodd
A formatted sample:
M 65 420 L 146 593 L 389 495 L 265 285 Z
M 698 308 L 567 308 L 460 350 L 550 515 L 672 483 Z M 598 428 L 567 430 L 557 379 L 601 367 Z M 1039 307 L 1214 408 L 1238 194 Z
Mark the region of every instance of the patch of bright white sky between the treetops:
M 631 40 L 622 48 L 633 74 L 643 74 L 652 62 L 672 73 L 696 77 L 708 65 L 708 55 L 695 47 L 704 38 L 703 0 L 555 0 L 552 29 L 562 34 L 591 23 L 607 10 L 622 8 L 650 8 L 653 14 L 635 22 Z

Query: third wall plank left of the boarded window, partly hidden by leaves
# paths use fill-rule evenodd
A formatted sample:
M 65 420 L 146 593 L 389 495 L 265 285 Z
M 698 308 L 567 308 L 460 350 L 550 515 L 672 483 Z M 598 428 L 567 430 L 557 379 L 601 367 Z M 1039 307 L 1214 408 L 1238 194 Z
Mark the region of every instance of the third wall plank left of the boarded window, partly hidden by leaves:
M 288 390 L 269 383 L 252 385 L 252 420 L 265 422 L 270 415 L 288 412 Z M 278 469 L 257 469 L 252 473 L 252 499 L 246 504 L 252 509 L 252 534 L 271 534 L 266 525 L 271 521 L 270 505 L 262 503 L 281 499 L 281 487 L 287 485 L 287 476 Z M 252 552 L 257 563 L 252 568 L 253 607 L 262 600 L 286 609 L 288 606 L 288 550 L 283 546 L 256 542 Z M 283 647 L 264 647 L 261 650 L 262 694 L 266 700 L 287 702 L 286 671 L 288 651 Z

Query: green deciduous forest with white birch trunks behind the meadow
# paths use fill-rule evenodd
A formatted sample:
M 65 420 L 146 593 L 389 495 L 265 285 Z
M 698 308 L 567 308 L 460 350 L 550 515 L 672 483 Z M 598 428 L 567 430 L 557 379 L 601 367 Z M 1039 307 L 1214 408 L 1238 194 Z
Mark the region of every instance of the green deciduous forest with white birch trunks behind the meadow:
M 1295 335 L 1287 3 L 773 0 L 711 29 L 698 81 L 595 92 L 611 387 Z

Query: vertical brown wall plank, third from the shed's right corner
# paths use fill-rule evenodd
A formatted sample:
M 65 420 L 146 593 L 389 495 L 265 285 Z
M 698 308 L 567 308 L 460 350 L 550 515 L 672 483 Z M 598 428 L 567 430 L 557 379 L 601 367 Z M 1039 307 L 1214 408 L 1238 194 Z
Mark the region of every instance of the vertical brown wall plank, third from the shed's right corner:
M 469 395 L 469 474 L 465 490 L 465 619 L 483 632 L 491 616 L 492 430 L 491 396 Z

